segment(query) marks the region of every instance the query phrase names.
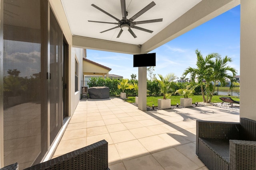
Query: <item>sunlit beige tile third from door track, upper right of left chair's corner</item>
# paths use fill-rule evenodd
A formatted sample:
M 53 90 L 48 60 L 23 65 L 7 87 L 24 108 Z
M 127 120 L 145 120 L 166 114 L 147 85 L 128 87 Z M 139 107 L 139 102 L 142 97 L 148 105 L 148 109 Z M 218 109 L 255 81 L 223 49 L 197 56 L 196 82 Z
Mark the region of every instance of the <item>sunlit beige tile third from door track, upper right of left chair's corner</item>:
M 110 133 L 110 136 L 114 143 L 120 143 L 120 142 L 131 141 L 136 139 L 134 135 L 132 135 L 132 133 L 130 133 L 130 131 L 128 130 L 112 132 Z

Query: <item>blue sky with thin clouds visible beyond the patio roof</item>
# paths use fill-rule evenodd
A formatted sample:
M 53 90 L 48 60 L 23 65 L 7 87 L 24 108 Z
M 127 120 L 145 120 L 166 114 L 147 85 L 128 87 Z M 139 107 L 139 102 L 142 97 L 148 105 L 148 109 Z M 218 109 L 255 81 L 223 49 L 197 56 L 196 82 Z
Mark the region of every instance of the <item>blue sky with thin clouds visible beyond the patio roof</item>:
M 210 53 L 231 57 L 233 61 L 229 66 L 240 75 L 240 5 L 150 51 L 156 53 L 153 74 L 159 78 L 158 74 L 165 76 L 172 72 L 180 77 L 189 66 L 196 68 L 196 49 L 204 57 Z M 133 55 L 87 49 L 87 59 L 112 68 L 109 74 L 128 79 L 131 74 L 136 74 L 138 79 Z

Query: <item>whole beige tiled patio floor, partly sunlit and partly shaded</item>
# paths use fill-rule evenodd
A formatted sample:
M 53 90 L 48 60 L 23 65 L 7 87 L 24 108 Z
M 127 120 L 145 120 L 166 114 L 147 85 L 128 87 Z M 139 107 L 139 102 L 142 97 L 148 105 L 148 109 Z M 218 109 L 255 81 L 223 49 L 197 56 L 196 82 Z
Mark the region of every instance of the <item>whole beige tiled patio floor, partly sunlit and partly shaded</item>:
M 110 170 L 207 170 L 195 154 L 196 120 L 239 119 L 214 106 L 141 111 L 120 98 L 80 100 L 53 158 L 105 139 Z

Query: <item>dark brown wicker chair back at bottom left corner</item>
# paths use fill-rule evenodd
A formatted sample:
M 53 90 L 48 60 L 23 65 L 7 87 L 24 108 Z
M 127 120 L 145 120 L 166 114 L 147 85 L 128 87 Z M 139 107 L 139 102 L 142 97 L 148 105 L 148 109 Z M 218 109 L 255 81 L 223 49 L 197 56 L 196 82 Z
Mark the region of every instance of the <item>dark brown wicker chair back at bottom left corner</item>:
M 17 170 L 7 167 L 9 168 L 4 167 L 3 170 Z M 98 141 L 25 170 L 109 170 L 108 142 Z

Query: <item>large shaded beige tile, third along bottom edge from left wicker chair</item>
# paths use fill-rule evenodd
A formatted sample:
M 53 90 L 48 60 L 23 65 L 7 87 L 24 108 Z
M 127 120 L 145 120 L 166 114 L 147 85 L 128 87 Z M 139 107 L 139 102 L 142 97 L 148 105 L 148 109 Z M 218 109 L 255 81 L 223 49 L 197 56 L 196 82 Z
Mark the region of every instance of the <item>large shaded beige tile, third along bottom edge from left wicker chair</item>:
M 153 153 L 152 156 L 154 156 L 165 170 L 197 170 L 200 168 L 174 148 Z

